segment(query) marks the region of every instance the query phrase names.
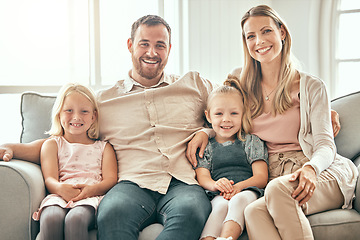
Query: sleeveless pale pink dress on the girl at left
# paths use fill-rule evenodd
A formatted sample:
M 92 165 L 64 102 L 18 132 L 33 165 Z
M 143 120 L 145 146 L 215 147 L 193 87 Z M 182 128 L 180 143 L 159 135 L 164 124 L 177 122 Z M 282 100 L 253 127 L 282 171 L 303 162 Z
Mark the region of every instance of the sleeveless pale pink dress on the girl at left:
M 96 141 L 93 144 L 69 143 L 63 137 L 54 138 L 58 145 L 59 181 L 67 184 L 93 185 L 102 180 L 101 163 L 106 142 Z M 77 202 L 66 202 L 57 194 L 49 194 L 41 202 L 40 208 L 33 214 L 39 220 L 44 207 L 58 205 L 62 208 L 73 208 L 79 205 L 90 205 L 97 209 L 102 196 L 90 197 Z

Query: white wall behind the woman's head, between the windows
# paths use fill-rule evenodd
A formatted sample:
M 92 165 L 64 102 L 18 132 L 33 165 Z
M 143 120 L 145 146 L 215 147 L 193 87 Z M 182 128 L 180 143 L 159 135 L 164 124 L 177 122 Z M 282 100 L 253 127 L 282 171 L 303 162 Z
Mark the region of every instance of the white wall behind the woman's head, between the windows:
M 251 7 L 267 4 L 285 20 L 302 69 L 320 75 L 318 24 L 321 0 L 189 0 L 189 67 L 221 83 L 242 65 L 240 21 Z M 315 63 L 315 64 L 314 64 Z M 320 76 L 321 77 L 321 76 Z

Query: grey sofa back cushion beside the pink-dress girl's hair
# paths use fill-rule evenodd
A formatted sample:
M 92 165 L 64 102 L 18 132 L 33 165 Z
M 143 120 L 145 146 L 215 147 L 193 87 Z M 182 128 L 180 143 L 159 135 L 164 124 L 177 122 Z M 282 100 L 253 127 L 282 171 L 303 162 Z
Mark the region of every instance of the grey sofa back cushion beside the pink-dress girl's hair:
M 56 96 L 45 96 L 34 92 L 21 95 L 22 132 L 20 142 L 28 143 L 49 137 L 45 134 L 51 126 L 51 110 Z

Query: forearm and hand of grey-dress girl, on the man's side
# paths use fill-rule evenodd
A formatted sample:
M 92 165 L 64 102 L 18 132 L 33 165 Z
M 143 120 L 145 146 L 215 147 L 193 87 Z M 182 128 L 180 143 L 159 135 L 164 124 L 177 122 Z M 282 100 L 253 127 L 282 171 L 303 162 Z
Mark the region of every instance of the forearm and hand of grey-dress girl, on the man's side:
M 232 184 L 234 182 L 232 180 L 228 180 L 226 178 L 221 178 L 217 181 L 214 181 L 211 178 L 210 171 L 206 168 L 197 168 L 195 169 L 196 179 L 198 180 L 200 186 L 209 191 L 220 191 L 229 193 L 233 190 Z

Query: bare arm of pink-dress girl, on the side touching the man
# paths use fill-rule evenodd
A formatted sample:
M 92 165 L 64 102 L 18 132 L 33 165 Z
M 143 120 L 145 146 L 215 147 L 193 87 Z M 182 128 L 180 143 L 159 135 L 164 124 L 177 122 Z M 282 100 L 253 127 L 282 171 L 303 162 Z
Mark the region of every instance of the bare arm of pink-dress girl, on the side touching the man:
M 84 198 L 104 195 L 110 188 L 117 183 L 117 160 L 113 147 L 106 143 L 102 159 L 102 181 L 94 185 L 78 184 L 75 188 L 81 193 L 72 201 L 79 201 Z

